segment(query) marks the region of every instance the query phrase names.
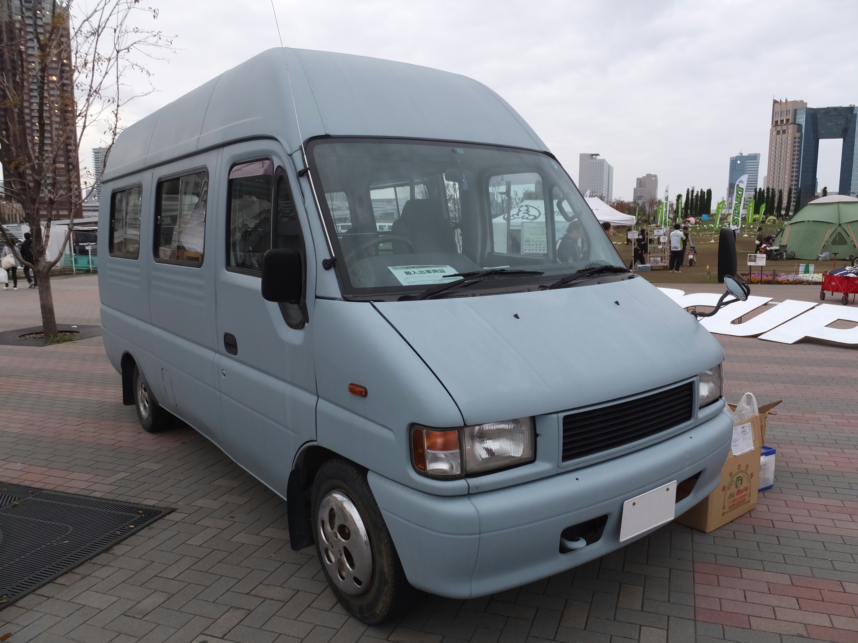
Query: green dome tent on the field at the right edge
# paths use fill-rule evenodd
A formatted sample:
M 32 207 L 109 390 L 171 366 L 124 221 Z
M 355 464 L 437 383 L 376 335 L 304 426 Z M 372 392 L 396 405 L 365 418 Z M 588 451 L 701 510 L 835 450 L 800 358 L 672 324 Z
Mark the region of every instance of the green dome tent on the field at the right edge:
M 858 256 L 858 199 L 831 195 L 802 207 L 775 236 L 796 259 L 815 260 L 824 252 Z

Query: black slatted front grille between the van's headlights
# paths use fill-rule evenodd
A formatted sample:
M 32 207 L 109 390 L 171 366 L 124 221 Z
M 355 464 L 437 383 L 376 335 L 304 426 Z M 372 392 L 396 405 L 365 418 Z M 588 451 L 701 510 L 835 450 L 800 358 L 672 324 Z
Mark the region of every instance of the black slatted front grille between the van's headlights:
M 692 382 L 637 400 L 563 418 L 563 461 L 577 460 L 655 436 L 692 418 Z

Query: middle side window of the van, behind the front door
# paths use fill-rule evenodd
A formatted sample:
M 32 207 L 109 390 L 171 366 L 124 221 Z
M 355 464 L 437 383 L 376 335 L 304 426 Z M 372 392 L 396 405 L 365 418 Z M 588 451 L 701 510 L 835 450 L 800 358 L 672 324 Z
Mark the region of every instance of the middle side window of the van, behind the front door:
M 155 197 L 155 261 L 179 266 L 202 266 L 207 198 L 208 171 L 158 183 Z

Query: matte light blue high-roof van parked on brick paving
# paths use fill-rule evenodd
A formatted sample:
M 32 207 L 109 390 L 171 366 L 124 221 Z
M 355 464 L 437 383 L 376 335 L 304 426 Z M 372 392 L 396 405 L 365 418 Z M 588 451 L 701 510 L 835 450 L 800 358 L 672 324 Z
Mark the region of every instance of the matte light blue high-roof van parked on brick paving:
M 717 484 L 721 347 L 479 82 L 265 51 L 125 129 L 102 195 L 124 403 L 285 498 L 365 622 L 574 568 Z

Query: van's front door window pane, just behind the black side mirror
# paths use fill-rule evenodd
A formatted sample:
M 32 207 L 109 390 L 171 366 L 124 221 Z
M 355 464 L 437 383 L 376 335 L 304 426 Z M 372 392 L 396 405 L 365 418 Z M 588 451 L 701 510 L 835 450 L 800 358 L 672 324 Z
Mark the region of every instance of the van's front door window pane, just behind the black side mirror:
M 271 248 L 271 180 L 274 163 L 259 160 L 229 171 L 227 266 L 261 273 Z

